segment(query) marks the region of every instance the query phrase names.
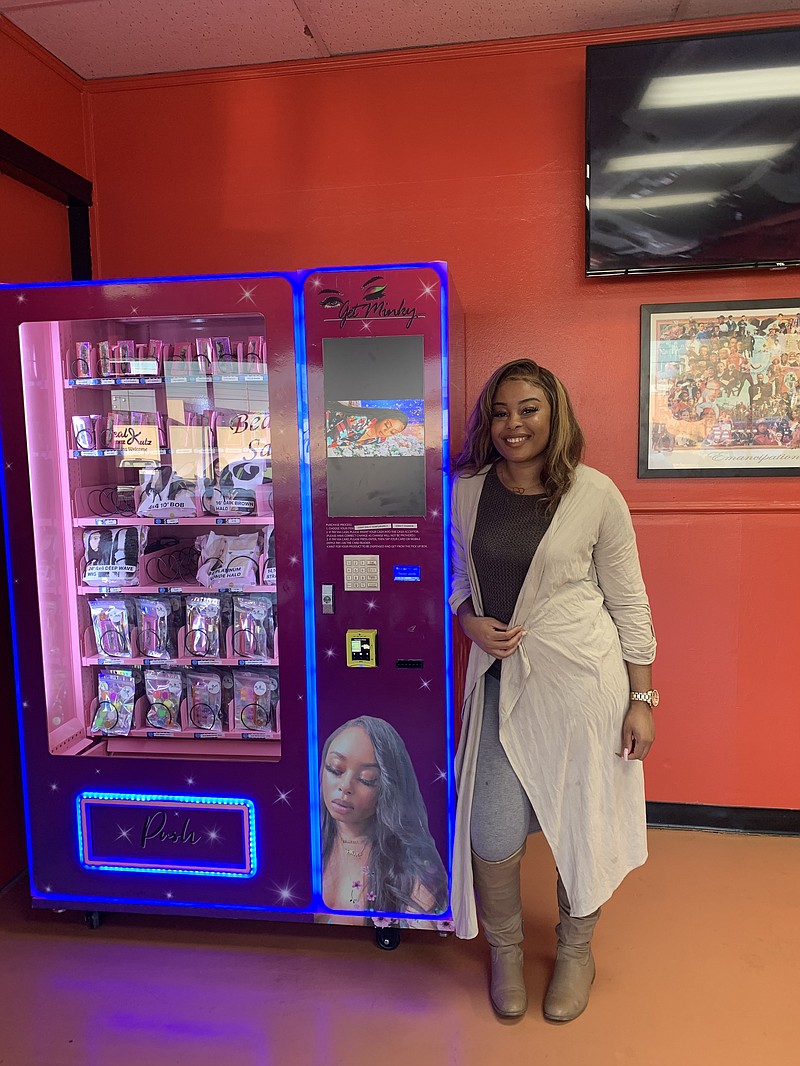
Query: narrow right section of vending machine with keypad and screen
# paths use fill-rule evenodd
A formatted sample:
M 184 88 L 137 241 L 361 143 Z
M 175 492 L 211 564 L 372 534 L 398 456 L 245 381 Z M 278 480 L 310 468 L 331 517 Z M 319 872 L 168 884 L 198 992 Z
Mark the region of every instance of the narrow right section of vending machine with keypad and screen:
M 451 927 L 448 295 L 444 263 L 303 285 L 317 920 L 386 948 Z

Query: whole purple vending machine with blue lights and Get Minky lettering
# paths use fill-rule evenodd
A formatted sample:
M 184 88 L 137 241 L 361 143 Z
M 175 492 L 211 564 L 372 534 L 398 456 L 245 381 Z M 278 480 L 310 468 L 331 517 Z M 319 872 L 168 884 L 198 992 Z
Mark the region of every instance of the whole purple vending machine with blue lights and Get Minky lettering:
M 34 906 L 449 928 L 449 297 L 0 287 Z

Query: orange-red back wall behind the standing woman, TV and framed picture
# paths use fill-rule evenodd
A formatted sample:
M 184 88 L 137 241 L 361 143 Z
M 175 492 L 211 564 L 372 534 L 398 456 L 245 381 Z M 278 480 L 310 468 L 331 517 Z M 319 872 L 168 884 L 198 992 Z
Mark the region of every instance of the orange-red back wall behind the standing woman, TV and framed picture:
M 640 305 L 793 297 L 797 272 L 583 277 L 591 39 L 94 84 L 97 264 L 448 260 L 467 395 L 511 356 L 553 367 L 635 513 L 663 692 L 650 798 L 797 808 L 798 483 L 637 480 Z

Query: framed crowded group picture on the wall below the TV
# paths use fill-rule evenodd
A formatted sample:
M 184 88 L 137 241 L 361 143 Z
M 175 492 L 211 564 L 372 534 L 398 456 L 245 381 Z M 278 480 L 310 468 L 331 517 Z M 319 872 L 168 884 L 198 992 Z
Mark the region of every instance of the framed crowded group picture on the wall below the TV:
M 642 306 L 640 478 L 800 474 L 800 297 Z

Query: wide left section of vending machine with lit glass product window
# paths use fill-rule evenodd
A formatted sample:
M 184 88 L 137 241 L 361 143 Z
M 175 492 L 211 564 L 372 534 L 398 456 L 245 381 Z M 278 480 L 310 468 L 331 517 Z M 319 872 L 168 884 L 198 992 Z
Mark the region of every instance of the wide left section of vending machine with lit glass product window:
M 295 285 L 0 289 L 36 907 L 310 920 Z

